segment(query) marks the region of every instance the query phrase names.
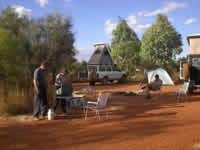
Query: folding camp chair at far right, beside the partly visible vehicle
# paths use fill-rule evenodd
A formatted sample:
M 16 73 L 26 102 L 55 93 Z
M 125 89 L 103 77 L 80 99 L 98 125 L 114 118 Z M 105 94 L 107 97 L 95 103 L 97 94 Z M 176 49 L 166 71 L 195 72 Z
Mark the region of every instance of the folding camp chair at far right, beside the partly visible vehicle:
M 183 100 L 184 98 L 186 99 L 188 96 L 187 95 L 188 89 L 189 89 L 189 82 L 184 82 L 183 88 L 179 88 L 174 91 L 176 94 L 176 99 L 181 100 L 181 97 L 183 97 Z

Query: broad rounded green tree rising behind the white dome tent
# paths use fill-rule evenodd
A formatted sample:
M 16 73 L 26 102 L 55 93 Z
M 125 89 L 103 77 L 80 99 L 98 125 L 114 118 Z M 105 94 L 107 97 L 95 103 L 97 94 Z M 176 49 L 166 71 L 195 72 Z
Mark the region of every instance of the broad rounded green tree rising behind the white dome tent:
M 146 30 L 142 37 L 143 64 L 147 68 L 152 66 L 167 68 L 182 52 L 181 46 L 181 34 L 176 32 L 167 16 L 159 14 L 156 24 Z

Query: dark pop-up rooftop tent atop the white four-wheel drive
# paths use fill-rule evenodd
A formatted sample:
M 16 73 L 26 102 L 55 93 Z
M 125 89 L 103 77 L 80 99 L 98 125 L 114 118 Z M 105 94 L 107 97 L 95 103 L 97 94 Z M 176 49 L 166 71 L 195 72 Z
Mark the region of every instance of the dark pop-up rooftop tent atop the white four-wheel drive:
M 106 44 L 96 44 L 88 65 L 112 65 L 113 59 Z

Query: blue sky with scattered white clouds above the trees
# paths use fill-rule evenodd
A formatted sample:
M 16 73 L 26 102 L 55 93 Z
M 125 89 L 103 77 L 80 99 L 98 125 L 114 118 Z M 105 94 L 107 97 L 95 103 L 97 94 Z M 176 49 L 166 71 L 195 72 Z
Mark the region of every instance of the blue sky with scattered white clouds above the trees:
M 32 18 L 56 10 L 72 17 L 79 61 L 89 59 L 95 43 L 111 42 L 118 16 L 126 19 L 141 39 L 144 31 L 155 23 L 158 13 L 167 15 L 182 35 L 181 56 L 188 53 L 187 35 L 200 33 L 199 0 L 0 0 L 1 10 L 8 5 L 19 15 Z

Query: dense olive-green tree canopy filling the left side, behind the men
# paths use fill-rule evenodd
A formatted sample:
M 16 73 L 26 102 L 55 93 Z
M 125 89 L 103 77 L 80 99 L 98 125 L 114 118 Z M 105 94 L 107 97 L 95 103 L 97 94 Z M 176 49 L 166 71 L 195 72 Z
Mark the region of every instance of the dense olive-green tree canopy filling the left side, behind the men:
M 23 86 L 24 80 L 31 85 L 33 71 L 44 59 L 50 62 L 49 72 L 53 74 L 53 80 L 61 67 L 76 61 L 71 18 L 59 12 L 29 19 L 18 16 L 8 7 L 0 14 L 0 34 L 0 56 L 9 55 L 10 58 L 1 61 L 13 66 L 16 83 L 21 82 Z M 9 70 L 8 65 L 2 67 Z M 20 78 L 22 76 L 24 78 Z

